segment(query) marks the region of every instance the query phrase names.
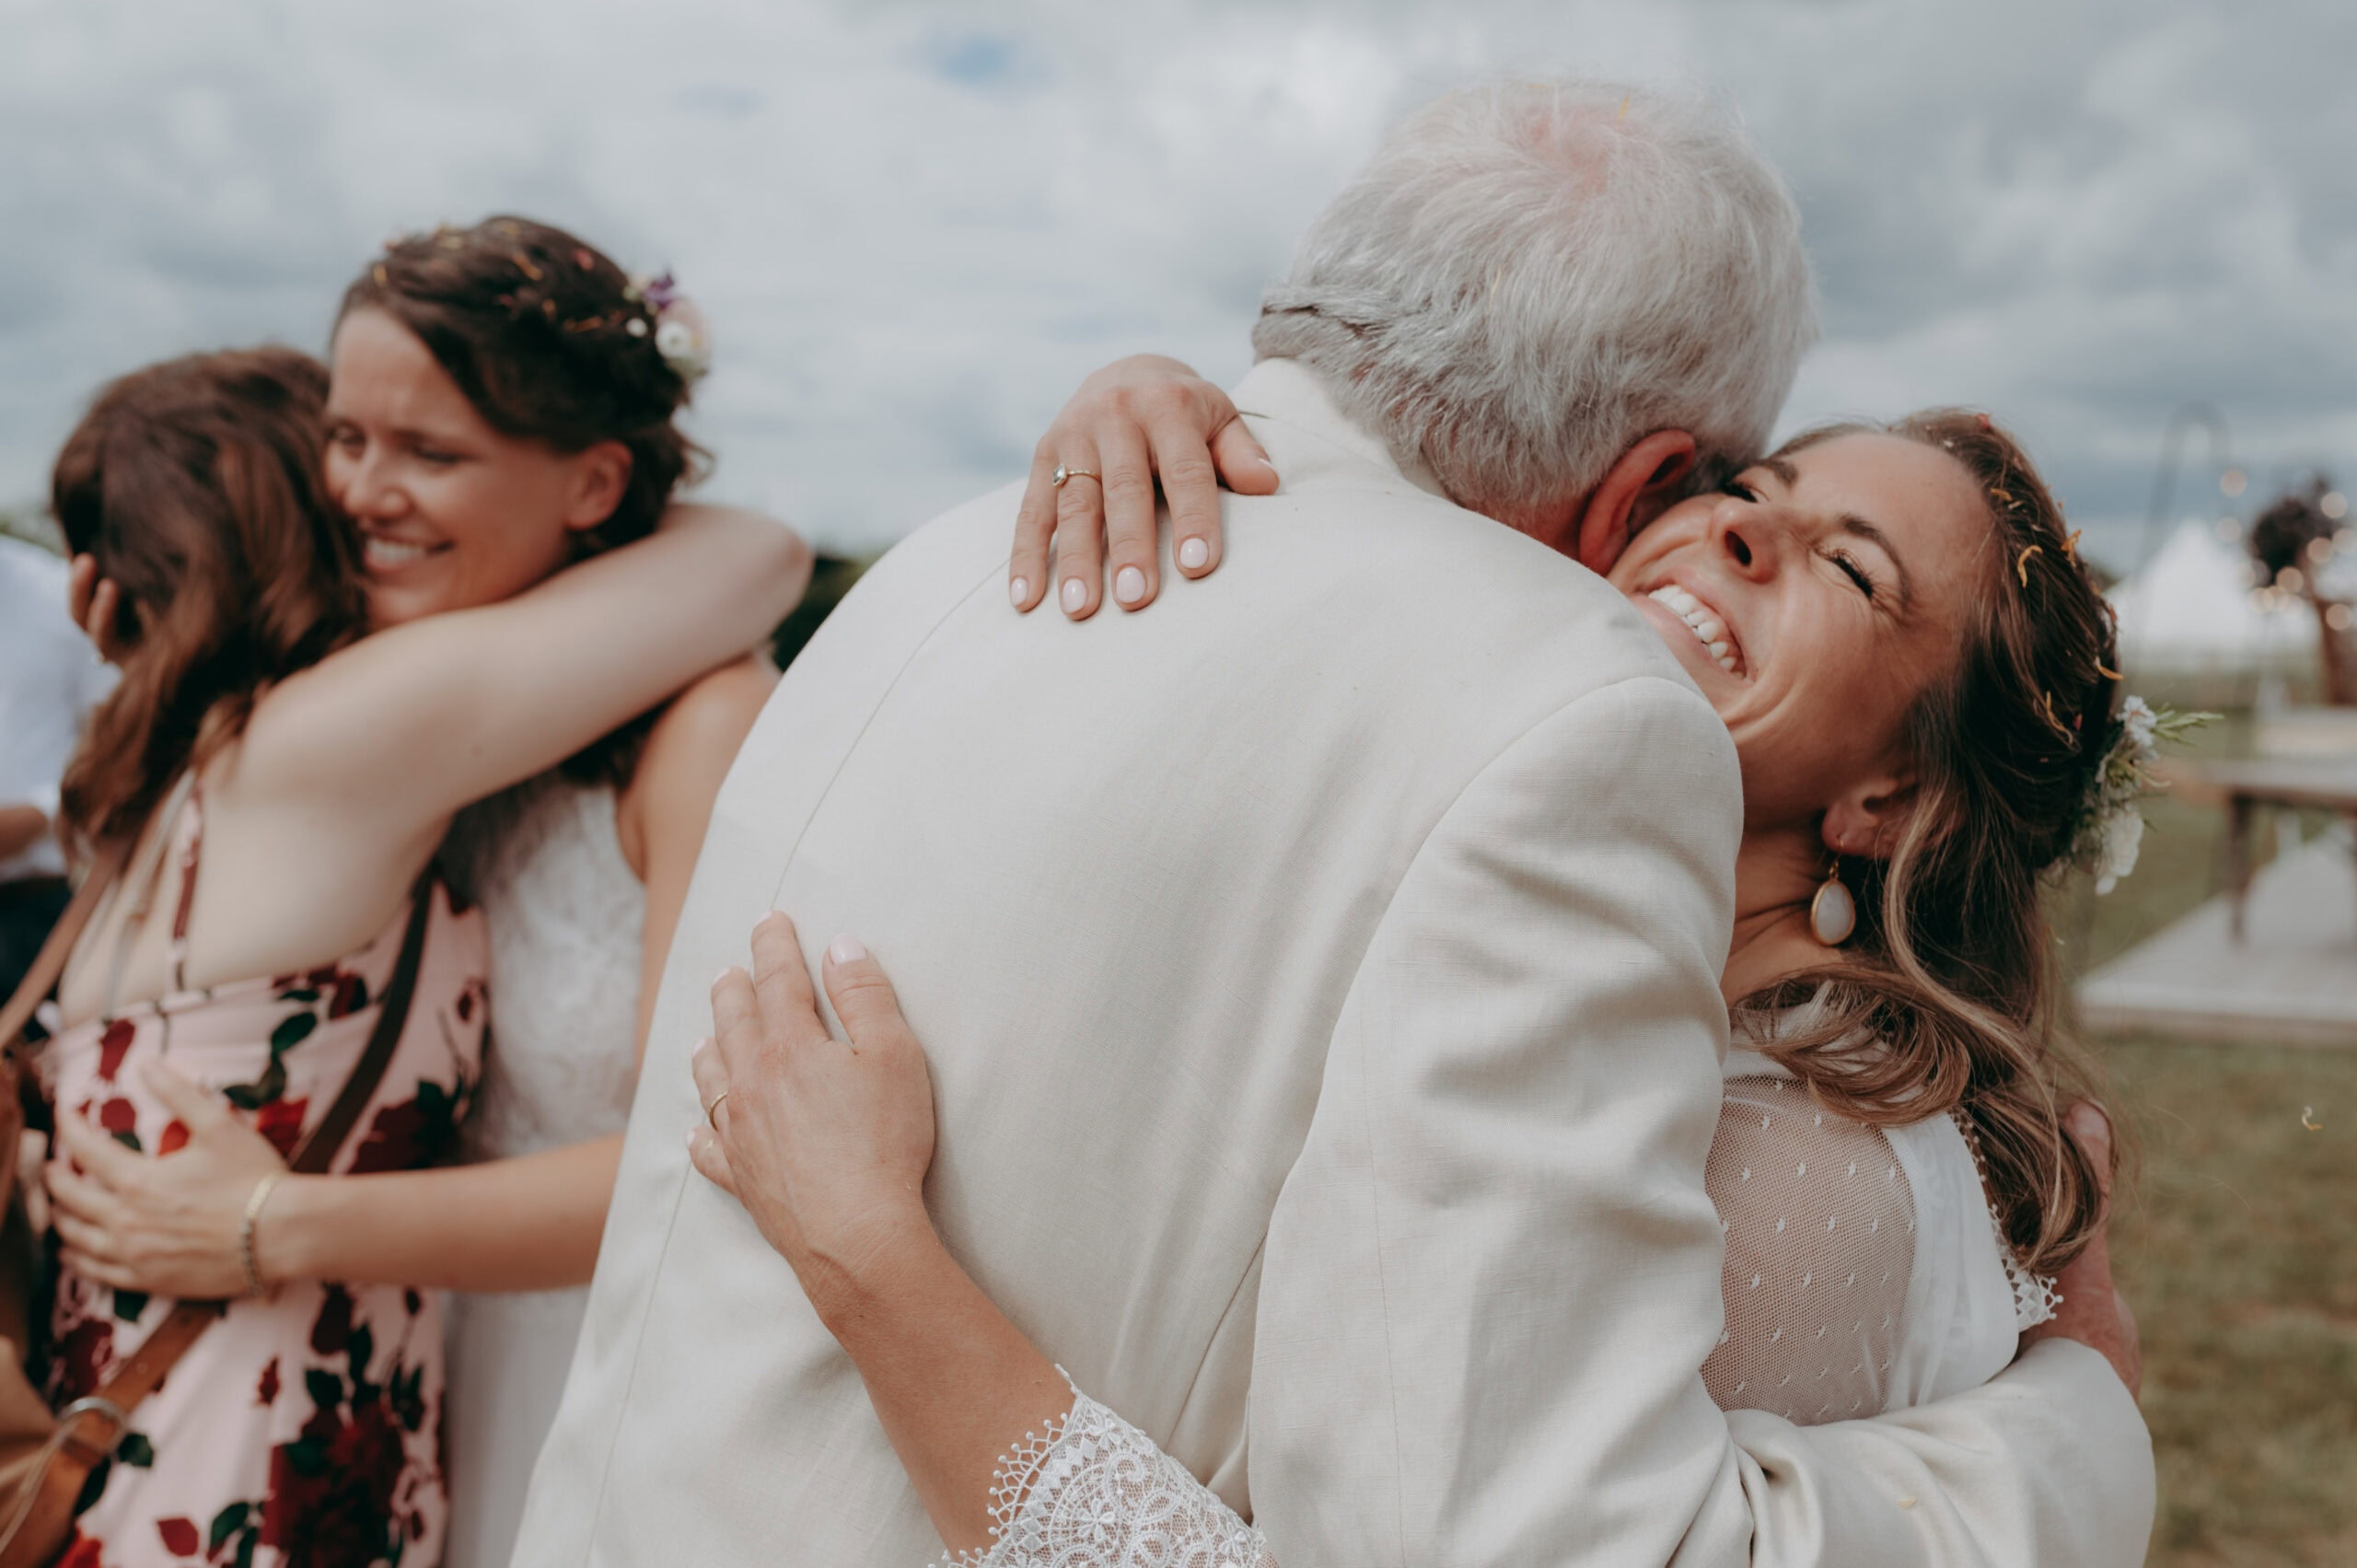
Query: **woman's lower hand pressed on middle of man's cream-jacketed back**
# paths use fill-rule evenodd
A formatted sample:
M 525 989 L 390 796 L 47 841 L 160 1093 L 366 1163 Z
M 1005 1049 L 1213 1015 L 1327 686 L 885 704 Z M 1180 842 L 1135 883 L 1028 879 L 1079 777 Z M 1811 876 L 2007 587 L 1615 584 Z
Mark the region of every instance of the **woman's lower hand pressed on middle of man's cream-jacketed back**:
M 752 971 L 731 967 L 712 983 L 714 1033 L 691 1059 L 705 1122 L 688 1155 L 745 1205 L 832 1323 L 884 1287 L 910 1243 L 931 1240 L 933 1082 L 858 941 L 834 938 L 825 983 L 849 1040 L 818 1016 L 794 922 L 754 927 Z

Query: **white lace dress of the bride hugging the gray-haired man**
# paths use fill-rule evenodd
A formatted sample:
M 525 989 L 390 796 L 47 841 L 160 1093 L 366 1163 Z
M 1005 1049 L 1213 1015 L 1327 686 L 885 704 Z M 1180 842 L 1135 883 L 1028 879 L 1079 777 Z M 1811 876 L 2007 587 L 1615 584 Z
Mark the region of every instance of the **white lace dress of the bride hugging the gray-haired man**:
M 1996 1377 L 2053 1316 L 1954 1120 L 1862 1127 L 1742 1049 L 1725 1087 L 1704 1179 L 1728 1320 L 1702 1368 L 1723 1410 L 1813 1427 L 1923 1405 Z M 1259 1530 L 1077 1386 L 1070 1415 L 1002 1457 L 990 1516 L 990 1549 L 948 1568 L 1277 1568 Z

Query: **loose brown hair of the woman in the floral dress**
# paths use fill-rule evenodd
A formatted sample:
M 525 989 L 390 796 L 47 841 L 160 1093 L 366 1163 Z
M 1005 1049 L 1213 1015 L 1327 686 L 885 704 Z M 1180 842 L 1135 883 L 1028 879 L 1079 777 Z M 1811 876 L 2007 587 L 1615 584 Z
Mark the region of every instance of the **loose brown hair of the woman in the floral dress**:
M 57 455 L 57 526 L 123 597 L 123 679 L 61 790 L 85 846 L 139 832 L 262 691 L 361 634 L 351 528 L 321 481 L 325 406 L 309 354 L 196 354 L 106 387 Z

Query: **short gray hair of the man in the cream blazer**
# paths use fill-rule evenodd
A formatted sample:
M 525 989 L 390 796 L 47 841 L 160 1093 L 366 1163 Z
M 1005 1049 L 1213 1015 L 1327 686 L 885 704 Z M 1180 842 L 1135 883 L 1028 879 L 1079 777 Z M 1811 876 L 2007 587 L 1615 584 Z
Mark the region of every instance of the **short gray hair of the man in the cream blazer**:
M 1817 311 L 1801 215 L 1699 94 L 1494 83 L 1400 125 L 1310 224 L 1252 347 L 1506 523 L 1685 429 L 1768 443 Z

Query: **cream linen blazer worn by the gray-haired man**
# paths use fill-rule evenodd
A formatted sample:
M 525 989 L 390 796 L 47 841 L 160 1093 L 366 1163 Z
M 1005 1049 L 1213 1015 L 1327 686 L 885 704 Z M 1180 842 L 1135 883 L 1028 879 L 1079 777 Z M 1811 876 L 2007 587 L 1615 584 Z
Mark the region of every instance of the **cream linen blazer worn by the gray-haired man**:
M 778 686 L 679 922 L 519 1568 L 919 1568 L 858 1372 L 688 1167 L 766 910 L 877 953 L 929 1198 L 1006 1313 L 1287 1568 L 2133 1563 L 2105 1363 L 1801 1431 L 1725 1417 L 1725 729 L 1603 580 L 1303 368 L 1219 573 L 1006 606 L 1016 488 L 893 549 Z M 1018 1434 L 1009 1434 L 1014 1438 Z

